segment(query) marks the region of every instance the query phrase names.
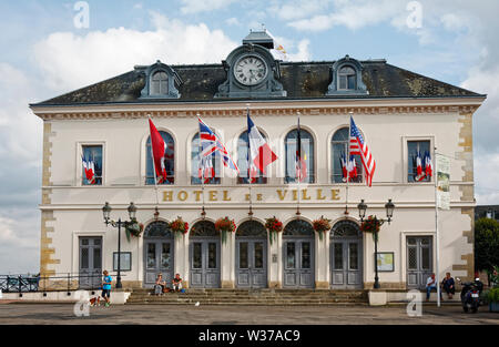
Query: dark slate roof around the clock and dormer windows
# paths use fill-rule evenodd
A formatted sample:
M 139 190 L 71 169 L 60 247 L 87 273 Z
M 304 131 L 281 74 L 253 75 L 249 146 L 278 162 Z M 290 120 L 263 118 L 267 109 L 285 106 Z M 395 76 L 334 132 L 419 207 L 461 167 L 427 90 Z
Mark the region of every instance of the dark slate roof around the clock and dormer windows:
M 334 61 L 324 62 L 282 62 L 279 82 L 287 96 L 271 100 L 301 99 L 379 99 L 379 98 L 462 98 L 478 94 L 445 82 L 440 82 L 397 67 L 385 60 L 360 61 L 364 67 L 363 81 L 367 86 L 366 95 L 328 95 L 332 82 L 330 68 Z M 179 86 L 180 99 L 150 100 L 140 99 L 145 75 L 130 71 L 112 79 L 79 89 L 77 91 L 32 104 L 78 105 L 102 103 L 177 103 L 208 102 L 227 99 L 214 98 L 218 85 L 226 80 L 222 64 L 172 65 L 183 84 Z M 230 99 L 235 100 L 235 99 Z M 258 100 L 263 100 L 258 98 Z

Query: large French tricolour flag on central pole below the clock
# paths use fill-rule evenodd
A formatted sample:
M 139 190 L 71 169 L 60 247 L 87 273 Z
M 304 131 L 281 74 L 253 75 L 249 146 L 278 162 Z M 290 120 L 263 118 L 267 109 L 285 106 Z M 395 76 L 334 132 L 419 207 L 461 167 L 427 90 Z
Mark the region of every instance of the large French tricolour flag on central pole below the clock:
M 277 155 L 271 150 L 258 129 L 256 129 L 247 111 L 247 139 L 249 142 L 248 162 L 249 178 L 258 176 L 258 172 L 266 174 L 265 169 L 277 160 Z

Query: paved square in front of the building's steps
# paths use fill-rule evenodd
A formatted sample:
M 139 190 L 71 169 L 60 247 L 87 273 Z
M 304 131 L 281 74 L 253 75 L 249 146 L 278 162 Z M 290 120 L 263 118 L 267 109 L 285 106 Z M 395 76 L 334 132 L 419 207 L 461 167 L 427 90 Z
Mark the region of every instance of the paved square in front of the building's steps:
M 408 317 L 406 306 L 169 306 L 114 305 L 91 307 L 77 317 L 72 304 L 0 304 L 0 325 L 44 324 L 180 324 L 180 325 L 369 325 L 369 324 L 495 324 L 499 313 L 481 307 L 464 314 L 460 306 L 424 306 L 421 317 Z M 172 320 L 172 313 L 177 319 Z

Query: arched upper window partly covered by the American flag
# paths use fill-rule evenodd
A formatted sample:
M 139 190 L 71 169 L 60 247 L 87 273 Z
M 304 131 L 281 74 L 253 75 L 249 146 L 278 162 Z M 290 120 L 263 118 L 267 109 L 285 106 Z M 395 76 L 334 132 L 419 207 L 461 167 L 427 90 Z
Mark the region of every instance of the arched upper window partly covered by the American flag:
M 332 183 L 346 182 L 343 175 L 342 156 L 346 160 L 348 154 L 348 127 L 342 127 L 336 131 L 330 140 L 330 172 Z M 357 177 L 352 178 L 350 182 L 363 182 L 363 162 L 360 155 L 354 155 L 355 164 L 357 167 Z

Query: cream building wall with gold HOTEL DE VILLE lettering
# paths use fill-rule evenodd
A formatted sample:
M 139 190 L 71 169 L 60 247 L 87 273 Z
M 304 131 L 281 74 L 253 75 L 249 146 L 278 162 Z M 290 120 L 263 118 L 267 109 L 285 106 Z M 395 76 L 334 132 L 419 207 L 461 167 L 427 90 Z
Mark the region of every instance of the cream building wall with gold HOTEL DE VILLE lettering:
M 420 102 L 419 102 L 420 103 Z M 368 204 L 367 215 L 385 217 L 388 198 L 396 204 L 394 221 L 381 227 L 378 251 L 395 253 L 395 272 L 381 273 L 380 282 L 391 287 L 406 286 L 406 246 L 409 235 L 435 236 L 434 182 L 407 182 L 408 140 L 430 140 L 439 153 L 451 161 L 451 210 L 440 212 L 440 275 L 472 276 L 472 139 L 471 115 L 477 105 L 451 105 L 442 101 L 335 101 L 257 103 L 252 105 L 255 124 L 269 139 L 279 160 L 272 165 L 266 185 L 252 187 L 254 218 L 264 222 L 277 216 L 284 223 L 296 217 L 296 185 L 283 182 L 284 139 L 295 127 L 301 111 L 302 127 L 315 141 L 315 184 L 302 184 L 302 218 L 313 221 L 320 215 L 333 221 L 345 217 L 347 187 L 330 184 L 330 139 L 348 125 L 349 112 L 376 160 L 373 187 L 349 184 L 349 217 L 357 218 L 356 205 L 361 198 Z M 101 208 L 104 202 L 113 206 L 112 217 L 128 218 L 126 207 L 134 202 L 138 220 L 153 221 L 156 196 L 160 218 L 171 221 L 181 215 L 190 225 L 201 217 L 201 201 L 190 184 L 191 140 L 198 130 L 196 112 L 222 136 L 227 150 L 235 154 L 240 134 L 246 130 L 245 104 L 218 103 L 195 105 L 141 105 L 111 110 L 86 106 L 67 110 L 34 110 L 44 119 L 44 156 L 42 185 L 41 271 L 44 274 L 78 272 L 78 236 L 103 236 L 103 268 L 112 268 L 112 252 L 116 251 L 118 231 L 105 227 Z M 156 127 L 167 131 L 175 140 L 175 185 L 144 185 L 145 141 L 149 136 L 146 114 Z M 103 144 L 103 185 L 81 186 L 81 144 Z M 434 156 L 434 154 L 432 154 Z M 236 157 L 234 157 L 236 160 Z M 237 185 L 225 172 L 220 185 L 205 186 L 206 217 L 215 221 L 228 215 L 236 224 L 247 220 L 246 185 Z M 285 191 L 287 190 L 287 193 Z M 180 192 L 185 192 L 181 193 Z M 212 193 L 211 193 L 212 192 Z M 259 195 L 258 195 L 259 194 Z M 284 195 L 286 194 L 286 195 Z M 185 201 L 184 197 L 189 196 Z M 197 195 L 198 196 L 198 195 Z M 309 200 L 307 200 L 309 198 Z M 143 279 L 142 238 L 130 243 L 122 234 L 122 252 L 132 252 L 132 272 L 123 280 L 140 285 Z M 329 238 L 316 237 L 316 286 L 329 283 Z M 268 282 L 282 282 L 282 236 L 268 245 Z M 435 253 L 435 247 L 434 247 Z M 277 263 L 272 255 L 277 254 Z M 374 244 L 364 236 L 364 283 L 374 278 Z M 234 236 L 222 249 L 222 285 L 234 285 Z M 434 256 L 435 259 L 435 256 Z M 434 262 L 435 266 L 435 262 Z M 189 278 L 189 235 L 175 239 L 175 272 Z

